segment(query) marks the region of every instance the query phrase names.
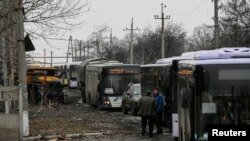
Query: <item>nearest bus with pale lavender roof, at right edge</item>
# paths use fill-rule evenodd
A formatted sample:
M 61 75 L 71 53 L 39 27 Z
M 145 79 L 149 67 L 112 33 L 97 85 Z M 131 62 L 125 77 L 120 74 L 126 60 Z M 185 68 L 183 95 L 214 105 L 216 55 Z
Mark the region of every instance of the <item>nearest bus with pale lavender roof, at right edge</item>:
M 188 55 L 193 59 L 178 64 L 174 95 L 178 140 L 208 140 L 207 125 L 250 125 L 250 48 Z

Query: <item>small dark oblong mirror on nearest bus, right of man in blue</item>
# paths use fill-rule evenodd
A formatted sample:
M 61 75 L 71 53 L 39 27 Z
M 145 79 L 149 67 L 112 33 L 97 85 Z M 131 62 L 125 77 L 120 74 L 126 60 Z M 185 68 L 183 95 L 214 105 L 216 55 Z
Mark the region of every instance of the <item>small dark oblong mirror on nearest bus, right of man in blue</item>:
M 181 107 L 188 108 L 191 104 L 191 89 L 185 88 L 181 93 Z

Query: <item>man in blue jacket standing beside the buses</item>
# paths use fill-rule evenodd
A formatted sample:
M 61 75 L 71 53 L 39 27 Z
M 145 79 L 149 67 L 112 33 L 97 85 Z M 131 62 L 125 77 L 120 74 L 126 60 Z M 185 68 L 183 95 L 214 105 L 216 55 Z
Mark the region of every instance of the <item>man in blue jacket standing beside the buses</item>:
M 161 127 L 161 121 L 162 121 L 162 113 L 164 109 L 164 98 L 159 94 L 159 88 L 153 89 L 153 95 L 155 97 L 155 115 L 154 115 L 154 123 L 157 128 L 157 134 L 162 134 L 162 127 Z

